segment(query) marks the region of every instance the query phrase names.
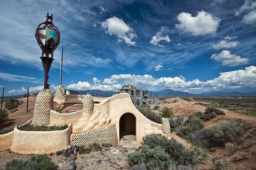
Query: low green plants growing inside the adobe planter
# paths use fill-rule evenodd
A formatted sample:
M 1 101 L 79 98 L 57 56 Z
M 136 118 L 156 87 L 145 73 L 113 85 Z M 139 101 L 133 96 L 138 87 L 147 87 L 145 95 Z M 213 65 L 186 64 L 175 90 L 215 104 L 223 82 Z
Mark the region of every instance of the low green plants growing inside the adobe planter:
M 21 131 L 60 131 L 68 128 L 68 125 L 62 126 L 32 126 L 30 124 L 26 124 L 22 127 L 18 127 Z

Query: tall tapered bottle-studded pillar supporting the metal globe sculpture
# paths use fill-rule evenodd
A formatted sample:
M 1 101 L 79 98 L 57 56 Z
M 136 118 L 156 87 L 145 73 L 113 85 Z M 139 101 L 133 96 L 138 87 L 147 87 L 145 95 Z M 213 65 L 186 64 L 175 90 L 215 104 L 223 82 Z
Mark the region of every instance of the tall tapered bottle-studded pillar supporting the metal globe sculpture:
M 32 124 L 43 126 L 50 124 L 50 111 L 53 109 L 53 95 L 50 89 L 38 93 L 34 108 Z

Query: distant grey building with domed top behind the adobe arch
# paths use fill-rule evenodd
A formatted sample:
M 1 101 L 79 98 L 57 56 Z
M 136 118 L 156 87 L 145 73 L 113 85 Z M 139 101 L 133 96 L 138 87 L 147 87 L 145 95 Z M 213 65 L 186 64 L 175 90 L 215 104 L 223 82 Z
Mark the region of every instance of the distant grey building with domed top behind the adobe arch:
M 139 90 L 131 84 L 123 85 L 122 89 L 119 90 L 119 93 L 129 93 L 134 106 L 158 104 L 157 97 L 148 98 L 147 91 Z

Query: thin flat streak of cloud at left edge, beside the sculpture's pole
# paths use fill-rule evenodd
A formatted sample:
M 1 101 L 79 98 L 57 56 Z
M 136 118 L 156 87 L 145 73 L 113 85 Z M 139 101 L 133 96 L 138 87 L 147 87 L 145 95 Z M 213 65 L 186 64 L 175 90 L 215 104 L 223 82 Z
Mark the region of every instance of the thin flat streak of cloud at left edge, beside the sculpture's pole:
M 9 74 L 0 72 L 0 79 L 7 80 L 7 81 L 22 81 L 22 82 L 29 82 L 29 83 L 41 83 L 42 80 L 34 78 L 34 77 L 27 77 L 21 76 L 17 74 Z

